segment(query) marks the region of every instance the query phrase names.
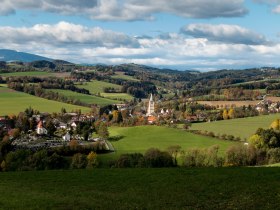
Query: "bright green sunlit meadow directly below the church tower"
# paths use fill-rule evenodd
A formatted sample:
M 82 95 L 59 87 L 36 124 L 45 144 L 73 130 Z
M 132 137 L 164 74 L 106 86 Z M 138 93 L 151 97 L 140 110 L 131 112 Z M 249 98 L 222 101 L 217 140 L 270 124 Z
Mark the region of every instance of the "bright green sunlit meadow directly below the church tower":
M 159 126 L 111 127 L 109 133 L 110 136 L 119 135 L 123 138 L 111 142 L 116 150 L 114 153 L 100 155 L 101 160 L 105 162 L 116 159 L 125 153 L 145 153 L 150 148 L 166 150 L 169 146 L 174 145 L 180 145 L 183 150 L 219 145 L 220 153 L 223 154 L 229 146 L 238 144 L 232 141 L 195 135 L 180 129 Z

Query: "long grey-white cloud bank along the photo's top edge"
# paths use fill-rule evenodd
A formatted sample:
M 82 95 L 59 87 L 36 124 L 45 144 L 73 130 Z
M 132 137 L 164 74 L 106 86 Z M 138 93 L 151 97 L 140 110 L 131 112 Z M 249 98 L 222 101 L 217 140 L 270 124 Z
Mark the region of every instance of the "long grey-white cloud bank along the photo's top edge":
M 33 9 L 100 20 L 153 19 L 156 13 L 187 18 L 239 17 L 247 14 L 244 0 L 4 0 L 0 15 Z M 211 9 L 210 9 L 211 8 Z

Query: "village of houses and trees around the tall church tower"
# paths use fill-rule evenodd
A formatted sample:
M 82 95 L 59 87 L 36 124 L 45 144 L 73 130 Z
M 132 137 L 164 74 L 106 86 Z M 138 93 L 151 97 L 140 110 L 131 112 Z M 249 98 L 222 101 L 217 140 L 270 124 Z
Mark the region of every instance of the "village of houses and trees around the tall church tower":
M 189 102 L 195 104 L 195 102 Z M 211 122 L 207 112 L 194 110 L 193 113 L 183 115 L 178 114 L 176 109 L 161 108 L 151 94 L 149 99 L 143 103 L 140 111 L 125 105 L 108 106 L 103 113 L 63 112 L 56 115 L 49 113 L 35 113 L 32 108 L 26 109 L 25 113 L 19 116 L 1 117 L 0 129 L 7 131 L 12 145 L 16 148 L 28 148 L 37 150 L 41 148 L 52 148 L 69 145 L 71 140 L 75 140 L 80 145 L 98 143 L 101 148 L 113 151 L 113 147 L 108 143 L 108 126 L 119 124 L 121 126 L 135 126 L 145 124 L 190 124 L 194 122 Z M 194 106 L 193 106 L 194 107 Z M 199 106 L 201 107 L 201 106 Z M 227 107 L 219 107 L 220 112 L 225 114 Z M 217 108 L 216 108 L 217 109 Z M 233 109 L 233 107 L 228 107 Z M 246 108 L 247 110 L 248 108 Z M 263 99 L 253 107 L 257 114 L 279 112 L 279 102 L 272 102 Z M 186 111 L 185 111 L 186 112 Z M 227 112 L 228 114 L 230 111 Z M 222 116 L 225 118 L 225 116 Z M 232 118 L 228 115 L 228 117 Z M 20 132 L 19 132 L 20 131 Z

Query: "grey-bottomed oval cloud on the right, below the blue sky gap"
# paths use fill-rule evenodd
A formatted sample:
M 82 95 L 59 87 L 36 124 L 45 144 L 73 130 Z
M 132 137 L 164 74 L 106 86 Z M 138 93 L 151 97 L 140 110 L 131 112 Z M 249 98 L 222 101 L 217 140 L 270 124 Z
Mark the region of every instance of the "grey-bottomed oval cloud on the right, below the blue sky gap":
M 190 24 L 181 29 L 181 32 L 195 38 L 206 38 L 210 41 L 223 43 L 259 45 L 266 44 L 266 38 L 238 25 L 211 25 Z

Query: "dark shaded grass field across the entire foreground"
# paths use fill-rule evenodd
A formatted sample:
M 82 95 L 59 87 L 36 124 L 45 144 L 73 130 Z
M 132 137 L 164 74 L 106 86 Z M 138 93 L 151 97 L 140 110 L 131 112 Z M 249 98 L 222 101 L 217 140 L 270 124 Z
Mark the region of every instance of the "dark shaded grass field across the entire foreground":
M 279 168 L 0 173 L 1 209 L 279 209 Z

